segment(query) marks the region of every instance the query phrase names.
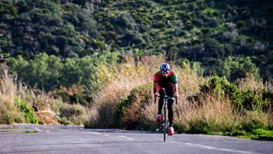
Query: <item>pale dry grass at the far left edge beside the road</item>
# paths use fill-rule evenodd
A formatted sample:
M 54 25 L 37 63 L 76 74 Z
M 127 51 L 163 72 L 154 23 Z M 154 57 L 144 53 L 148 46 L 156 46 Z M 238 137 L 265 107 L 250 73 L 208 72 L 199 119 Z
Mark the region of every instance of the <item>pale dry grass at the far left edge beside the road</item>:
M 16 78 L 8 74 L 8 69 L 3 70 L 0 78 L 0 106 L 1 115 L 5 117 L 2 123 L 23 123 L 24 117 L 16 108 L 15 99 L 24 100 L 29 106 L 36 106 L 36 118 L 41 123 L 57 124 L 56 115 L 51 111 L 50 95 L 39 90 L 31 90 L 22 83 L 16 83 Z

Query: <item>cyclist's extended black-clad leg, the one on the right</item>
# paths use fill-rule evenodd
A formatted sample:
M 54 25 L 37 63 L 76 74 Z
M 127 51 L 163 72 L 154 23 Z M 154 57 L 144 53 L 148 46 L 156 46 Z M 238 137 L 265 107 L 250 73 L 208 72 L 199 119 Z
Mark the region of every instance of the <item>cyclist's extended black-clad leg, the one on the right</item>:
M 172 127 L 173 120 L 174 120 L 174 90 L 172 87 L 167 88 L 166 90 L 168 95 L 168 119 L 169 119 L 169 127 Z

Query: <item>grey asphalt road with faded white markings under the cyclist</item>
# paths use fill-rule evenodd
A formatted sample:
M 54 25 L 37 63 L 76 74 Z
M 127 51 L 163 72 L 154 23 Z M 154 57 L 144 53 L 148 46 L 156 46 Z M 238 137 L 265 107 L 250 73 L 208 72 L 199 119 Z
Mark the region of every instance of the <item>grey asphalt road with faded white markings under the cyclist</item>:
M 201 134 L 163 134 L 83 127 L 14 125 L 0 128 L 0 153 L 273 153 L 272 141 Z

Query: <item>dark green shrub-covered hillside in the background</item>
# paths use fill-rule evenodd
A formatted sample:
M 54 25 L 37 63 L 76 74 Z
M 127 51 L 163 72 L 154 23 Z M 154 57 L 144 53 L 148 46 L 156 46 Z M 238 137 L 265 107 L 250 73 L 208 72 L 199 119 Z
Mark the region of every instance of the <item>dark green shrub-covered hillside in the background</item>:
M 0 54 L 7 58 L 31 63 L 46 53 L 65 65 L 67 58 L 77 61 L 87 56 L 93 62 L 107 52 L 162 55 L 178 64 L 184 59 L 201 62 L 204 75 L 215 73 L 231 81 L 247 73 L 273 78 L 269 0 L 3 0 L 0 4 Z M 9 65 L 20 80 L 35 85 L 20 73 L 25 68 L 14 60 Z M 57 86 L 71 84 L 59 81 Z

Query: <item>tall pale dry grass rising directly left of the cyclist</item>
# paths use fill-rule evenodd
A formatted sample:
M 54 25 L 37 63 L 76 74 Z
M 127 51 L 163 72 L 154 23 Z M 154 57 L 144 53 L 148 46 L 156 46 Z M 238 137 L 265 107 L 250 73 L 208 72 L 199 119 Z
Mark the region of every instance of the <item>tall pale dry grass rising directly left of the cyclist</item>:
M 153 73 L 158 71 L 163 59 L 160 57 L 142 57 L 139 64 L 126 57 L 127 63 L 121 64 L 114 72 L 116 78 L 108 80 L 102 88 L 95 92 L 94 104 L 87 112 L 88 122 L 94 127 L 108 127 L 113 123 L 116 104 L 125 99 L 133 87 L 153 80 Z

